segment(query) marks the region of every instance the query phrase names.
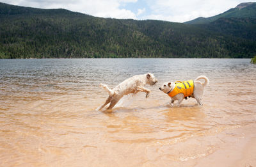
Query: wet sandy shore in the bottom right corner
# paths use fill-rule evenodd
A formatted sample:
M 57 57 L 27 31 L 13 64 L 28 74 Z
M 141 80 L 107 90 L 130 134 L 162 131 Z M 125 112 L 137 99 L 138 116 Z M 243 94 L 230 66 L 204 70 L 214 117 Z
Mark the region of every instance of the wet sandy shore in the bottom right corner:
M 196 159 L 200 166 L 256 166 L 256 124 L 245 125 L 237 129 L 228 129 L 216 135 L 220 139 L 220 148 L 212 154 Z M 227 139 L 227 136 L 230 136 Z

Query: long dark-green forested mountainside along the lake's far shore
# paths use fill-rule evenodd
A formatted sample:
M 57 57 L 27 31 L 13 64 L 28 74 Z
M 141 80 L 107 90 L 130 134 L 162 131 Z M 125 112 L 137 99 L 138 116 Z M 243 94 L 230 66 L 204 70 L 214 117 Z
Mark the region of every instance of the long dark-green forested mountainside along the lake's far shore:
M 251 58 L 255 19 L 228 19 L 198 26 L 0 3 L 0 58 Z

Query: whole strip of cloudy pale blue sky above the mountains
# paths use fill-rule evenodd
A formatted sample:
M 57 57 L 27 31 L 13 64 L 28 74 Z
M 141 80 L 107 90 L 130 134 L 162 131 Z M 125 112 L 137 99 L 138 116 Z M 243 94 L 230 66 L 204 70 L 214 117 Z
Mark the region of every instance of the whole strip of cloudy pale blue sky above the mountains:
M 33 8 L 64 8 L 95 17 L 186 22 L 211 17 L 250 0 L 0 0 Z M 251 0 L 250 2 L 256 2 Z

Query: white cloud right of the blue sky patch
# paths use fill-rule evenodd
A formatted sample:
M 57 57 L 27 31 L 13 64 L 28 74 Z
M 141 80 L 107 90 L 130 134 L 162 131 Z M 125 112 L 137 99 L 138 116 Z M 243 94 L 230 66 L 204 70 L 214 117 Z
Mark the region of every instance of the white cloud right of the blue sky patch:
M 197 17 L 211 17 L 223 13 L 248 0 L 154 0 L 150 1 L 151 15 L 146 19 L 185 22 Z

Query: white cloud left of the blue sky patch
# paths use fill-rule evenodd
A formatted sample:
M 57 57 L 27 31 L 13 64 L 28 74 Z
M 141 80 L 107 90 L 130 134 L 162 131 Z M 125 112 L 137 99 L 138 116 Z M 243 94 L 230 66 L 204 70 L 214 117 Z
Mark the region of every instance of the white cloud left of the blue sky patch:
M 122 3 L 136 3 L 136 1 L 138 0 L 6 0 L 5 3 L 34 8 L 65 8 L 96 17 L 136 19 L 136 13 L 121 8 Z

